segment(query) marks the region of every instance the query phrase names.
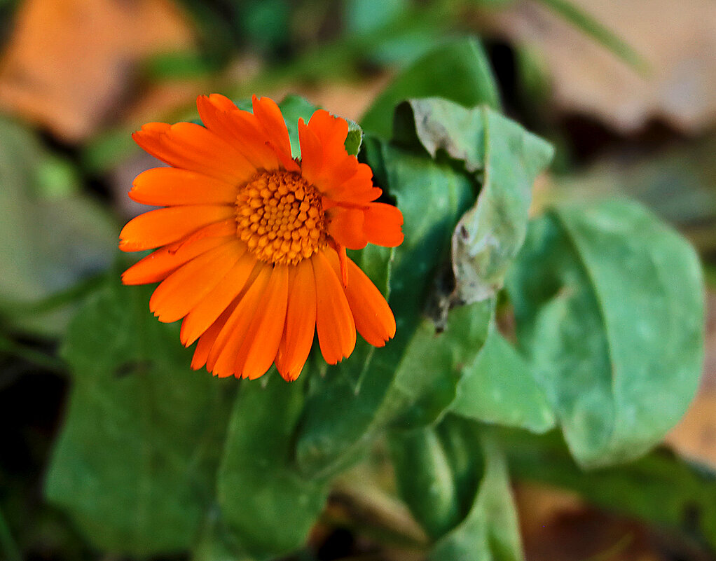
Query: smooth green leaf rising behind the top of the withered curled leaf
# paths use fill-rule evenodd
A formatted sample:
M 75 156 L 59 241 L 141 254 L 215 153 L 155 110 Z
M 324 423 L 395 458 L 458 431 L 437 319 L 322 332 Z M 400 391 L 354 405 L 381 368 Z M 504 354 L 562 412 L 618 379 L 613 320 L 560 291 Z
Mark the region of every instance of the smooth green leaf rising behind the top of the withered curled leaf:
M 390 136 L 395 107 L 414 97 L 445 97 L 465 107 L 500 107 L 488 57 L 475 39 L 456 39 L 436 47 L 393 79 L 363 115 L 364 130 Z

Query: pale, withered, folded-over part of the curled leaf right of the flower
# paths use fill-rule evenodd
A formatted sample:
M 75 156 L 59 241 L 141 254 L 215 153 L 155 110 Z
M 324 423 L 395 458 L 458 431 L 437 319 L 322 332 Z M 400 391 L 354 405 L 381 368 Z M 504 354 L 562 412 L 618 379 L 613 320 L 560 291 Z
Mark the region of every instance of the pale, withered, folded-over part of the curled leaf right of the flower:
M 411 99 L 395 122 L 402 142 L 417 141 L 432 157 L 444 151 L 481 180 L 477 203 L 453 236 L 455 296 L 466 303 L 491 298 L 525 238 L 532 185 L 552 147 L 489 107 L 465 109 L 447 99 Z

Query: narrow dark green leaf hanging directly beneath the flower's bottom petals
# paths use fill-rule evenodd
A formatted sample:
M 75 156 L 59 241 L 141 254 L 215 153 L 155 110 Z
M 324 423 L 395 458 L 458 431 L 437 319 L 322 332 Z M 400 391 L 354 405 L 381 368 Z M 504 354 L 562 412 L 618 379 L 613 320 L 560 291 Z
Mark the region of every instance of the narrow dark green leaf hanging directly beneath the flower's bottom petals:
M 301 477 L 292 462 L 304 404 L 301 381 L 272 371 L 244 381 L 229 421 L 218 474 L 223 519 L 256 559 L 273 559 L 306 541 L 328 494 L 325 482 Z

